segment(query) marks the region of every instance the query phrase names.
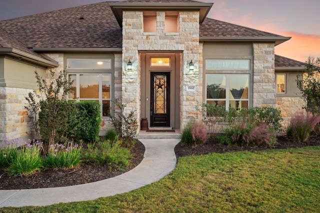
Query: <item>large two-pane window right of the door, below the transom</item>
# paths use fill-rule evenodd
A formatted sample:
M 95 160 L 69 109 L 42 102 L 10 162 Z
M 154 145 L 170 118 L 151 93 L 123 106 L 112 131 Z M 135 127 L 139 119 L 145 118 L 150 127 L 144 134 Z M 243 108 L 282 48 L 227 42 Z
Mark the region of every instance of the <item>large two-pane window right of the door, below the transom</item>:
M 206 74 L 206 102 L 234 108 L 247 108 L 249 74 Z

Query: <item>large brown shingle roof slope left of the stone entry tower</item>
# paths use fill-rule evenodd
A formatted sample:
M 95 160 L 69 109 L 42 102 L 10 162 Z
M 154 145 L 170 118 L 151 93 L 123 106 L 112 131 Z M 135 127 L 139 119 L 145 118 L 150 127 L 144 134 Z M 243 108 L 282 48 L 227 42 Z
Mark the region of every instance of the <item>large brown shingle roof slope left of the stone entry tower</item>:
M 83 19 L 81 18 L 83 17 Z M 122 30 L 106 2 L 0 21 L 26 47 L 121 48 Z

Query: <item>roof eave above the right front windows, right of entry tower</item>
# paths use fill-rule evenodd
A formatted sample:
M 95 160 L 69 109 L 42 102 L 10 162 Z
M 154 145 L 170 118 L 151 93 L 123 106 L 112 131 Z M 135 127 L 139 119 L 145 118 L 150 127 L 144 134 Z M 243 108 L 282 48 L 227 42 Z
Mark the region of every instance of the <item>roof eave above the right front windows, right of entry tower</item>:
M 276 46 L 290 38 L 284 36 L 199 36 L 199 41 L 274 41 Z

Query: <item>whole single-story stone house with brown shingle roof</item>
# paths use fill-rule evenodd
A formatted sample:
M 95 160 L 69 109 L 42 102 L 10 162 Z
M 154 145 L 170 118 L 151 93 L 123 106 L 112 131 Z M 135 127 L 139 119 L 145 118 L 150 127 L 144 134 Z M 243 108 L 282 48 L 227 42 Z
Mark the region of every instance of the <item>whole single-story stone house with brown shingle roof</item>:
M 101 134 L 113 100 L 153 127 L 201 120 L 198 102 L 276 107 L 286 125 L 304 104 L 295 83 L 304 63 L 274 54 L 290 37 L 208 18 L 212 5 L 124 0 L 0 21 L 0 135 L 31 136 L 34 70 L 66 70 L 69 100 L 99 101 Z

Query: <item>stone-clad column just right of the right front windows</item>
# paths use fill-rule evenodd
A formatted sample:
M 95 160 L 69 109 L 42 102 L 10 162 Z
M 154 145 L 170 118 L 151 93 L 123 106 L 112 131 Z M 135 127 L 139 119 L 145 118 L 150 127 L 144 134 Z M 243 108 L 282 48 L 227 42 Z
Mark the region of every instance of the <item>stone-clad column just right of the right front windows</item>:
M 253 43 L 253 106 L 276 105 L 274 43 Z

